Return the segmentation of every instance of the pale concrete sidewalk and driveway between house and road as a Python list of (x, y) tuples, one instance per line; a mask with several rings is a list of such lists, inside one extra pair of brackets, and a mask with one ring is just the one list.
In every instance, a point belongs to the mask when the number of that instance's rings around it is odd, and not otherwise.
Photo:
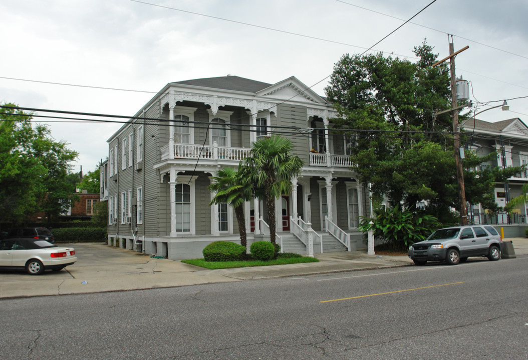
[[(528, 255), (528, 239), (510, 238), (515, 254)], [(104, 243), (70, 244), (79, 260), (61, 271), (30, 276), (0, 270), (0, 298), (66, 295), (306, 276), (409, 266), (407, 256), (367, 255), (364, 251), (316, 254), (319, 262), (208, 270), (181, 261), (155, 259)]]

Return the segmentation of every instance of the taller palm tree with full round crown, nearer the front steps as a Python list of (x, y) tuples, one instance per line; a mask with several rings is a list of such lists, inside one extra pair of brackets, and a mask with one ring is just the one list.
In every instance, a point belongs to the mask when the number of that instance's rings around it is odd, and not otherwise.
[[(251, 144), (250, 156), (244, 159), (244, 171), (255, 187), (253, 193), (266, 201), (270, 241), (275, 244), (275, 199), (291, 191), (291, 179), (300, 174), (303, 160), (290, 155), (293, 142), (280, 135), (261, 138)], [(257, 220), (257, 219), (255, 219)]]

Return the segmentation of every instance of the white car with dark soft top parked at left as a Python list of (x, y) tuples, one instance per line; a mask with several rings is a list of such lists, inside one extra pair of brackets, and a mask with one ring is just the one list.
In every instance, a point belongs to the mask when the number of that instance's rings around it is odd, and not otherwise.
[(40, 239), (0, 241), (0, 268), (25, 269), (30, 275), (62, 270), (77, 261), (75, 249), (58, 247)]

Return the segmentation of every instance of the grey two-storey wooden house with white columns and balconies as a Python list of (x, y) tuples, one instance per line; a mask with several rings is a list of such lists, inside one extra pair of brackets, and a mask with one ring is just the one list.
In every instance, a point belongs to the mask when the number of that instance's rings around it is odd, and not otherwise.
[[(362, 246), (356, 226), (370, 216), (371, 205), (367, 184), (350, 170), (351, 140), (327, 130), (336, 116), (325, 98), (293, 76), (276, 84), (238, 76), (167, 84), (108, 139), (100, 199), (108, 200), (109, 242), (183, 259), (201, 257), (212, 241), (239, 240), (233, 209), (209, 206), (207, 186), (218, 169), (237, 168), (253, 141), (279, 133), (293, 140), (304, 161), (293, 191), (276, 202), (284, 250), (306, 249), (290, 234), (302, 237), (306, 226), (299, 218), (324, 233), (324, 244), (338, 242), (326, 233), (325, 217), (333, 222), (328, 230), (344, 230), (342, 242), (355, 250)], [(266, 237), (266, 220), (261, 201), (246, 203), (248, 245)], [(342, 242), (332, 251), (346, 250)]]

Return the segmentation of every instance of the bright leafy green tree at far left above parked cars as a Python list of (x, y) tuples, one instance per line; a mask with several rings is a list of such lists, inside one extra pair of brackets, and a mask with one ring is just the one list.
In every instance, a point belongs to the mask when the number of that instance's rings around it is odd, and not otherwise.
[(69, 206), (71, 192), (65, 181), (77, 152), (55, 141), (46, 125), (31, 122), (31, 113), (16, 105), (1, 104), (0, 111), (0, 216), (21, 223), (36, 211), (48, 221)]

